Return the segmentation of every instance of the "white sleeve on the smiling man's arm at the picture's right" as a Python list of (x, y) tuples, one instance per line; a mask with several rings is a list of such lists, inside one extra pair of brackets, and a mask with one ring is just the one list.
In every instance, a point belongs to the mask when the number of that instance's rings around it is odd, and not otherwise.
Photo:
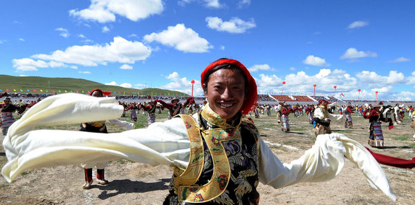
[(259, 181), (282, 188), (299, 182), (322, 182), (333, 179), (344, 166), (344, 156), (356, 164), (369, 185), (396, 200), (389, 182), (376, 159), (364, 146), (342, 134), (318, 135), (315, 144), (290, 164), (283, 164), (261, 140)]

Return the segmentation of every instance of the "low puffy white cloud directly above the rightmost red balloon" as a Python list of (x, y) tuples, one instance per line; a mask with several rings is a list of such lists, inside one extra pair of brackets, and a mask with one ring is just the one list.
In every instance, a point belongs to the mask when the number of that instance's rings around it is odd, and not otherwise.
[(388, 76), (381, 76), (376, 72), (363, 70), (362, 72), (358, 72), (356, 77), (360, 79), (361, 84), (365, 84), (368, 88), (373, 88), (378, 85), (402, 84), (405, 80), (403, 73), (397, 72), (396, 70), (390, 70)]

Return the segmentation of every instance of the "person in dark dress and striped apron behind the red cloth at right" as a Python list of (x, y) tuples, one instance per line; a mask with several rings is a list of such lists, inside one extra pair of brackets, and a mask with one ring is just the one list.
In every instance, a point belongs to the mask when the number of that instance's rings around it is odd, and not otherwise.
[[(382, 133), (382, 119), (380, 119), (380, 107), (382, 104), (380, 102), (376, 102), (372, 109), (367, 109), (363, 113), (363, 117), (365, 119), (369, 119), (370, 127), (369, 127), (369, 146), (373, 147), (383, 147), (383, 133)], [(367, 113), (369, 115), (367, 115)]]

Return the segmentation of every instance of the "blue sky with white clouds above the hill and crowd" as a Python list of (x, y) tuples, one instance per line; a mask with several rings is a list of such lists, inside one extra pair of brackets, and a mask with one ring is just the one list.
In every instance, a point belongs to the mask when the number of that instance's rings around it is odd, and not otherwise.
[(4, 75), (188, 94), (195, 80), (202, 95), (202, 70), (227, 57), (250, 70), (260, 93), (312, 94), (316, 84), (317, 95), (415, 100), (415, 1), (1, 4)]

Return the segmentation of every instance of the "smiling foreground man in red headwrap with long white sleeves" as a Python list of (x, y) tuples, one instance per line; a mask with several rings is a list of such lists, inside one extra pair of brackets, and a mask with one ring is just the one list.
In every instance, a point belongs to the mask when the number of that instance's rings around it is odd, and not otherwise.
[[(357, 141), (341, 134), (322, 135), (316, 140), (315, 146), (299, 159), (291, 164), (280, 162), (259, 137), (255, 124), (242, 118), (256, 104), (257, 85), (248, 69), (239, 61), (214, 61), (202, 72), (201, 84), (209, 101), (201, 113), (192, 116), (179, 115), (171, 120), (151, 124), (148, 128), (114, 133), (105, 139), (99, 138), (103, 134), (97, 133), (89, 137), (77, 136), (77, 141), (66, 141), (72, 139), (65, 138), (72, 134), (66, 130), (34, 130), (28, 133), (28, 126), (43, 124), (44, 121), (26, 121), (24, 118), (14, 125), (13, 132), (5, 139), (9, 162), (3, 167), (2, 174), (10, 182), (28, 168), (68, 163), (59, 160), (61, 158), (46, 158), (52, 154), (69, 158), (71, 163), (78, 160), (99, 162), (123, 157), (151, 165), (172, 166), (174, 175), (163, 204), (259, 204), (259, 182), (273, 188), (299, 182), (322, 182), (340, 173), (346, 156), (363, 170), (372, 186), (382, 190), (392, 200), (396, 199), (385, 173), (371, 154)], [(77, 95), (71, 94), (73, 96)], [(55, 100), (57, 99), (48, 101)], [(80, 96), (76, 101), (64, 102), (75, 106), (90, 105), (82, 106), (84, 110), (75, 111), (86, 112), (95, 108), (94, 106), (107, 110), (105, 113), (95, 111), (95, 115), (86, 115), (88, 119), (111, 118), (122, 112), (122, 108), (97, 104), (96, 101), (98, 99), (91, 100)], [(46, 103), (40, 106), (43, 105)], [(48, 110), (44, 112), (49, 117), (48, 120), (53, 120), (55, 124), (61, 120), (55, 116), (56, 113), (48, 113)], [(77, 112), (66, 113), (74, 114)], [(68, 121), (67, 117), (65, 119)], [(76, 116), (73, 120), (76, 120)], [(36, 156), (30, 155), (31, 151), (42, 145), (42, 141), (57, 133), (61, 135), (60, 141), (42, 146), (42, 152)], [(25, 140), (18, 144), (12, 143), (15, 139), (20, 139), (21, 135), (26, 136)], [(85, 143), (91, 141), (102, 143), (102, 150), (97, 153), (100, 156), (93, 159), (76, 157), (80, 150), (97, 148)], [(31, 146), (21, 148), (21, 143)], [(75, 145), (71, 147), (71, 153), (57, 155), (60, 150), (53, 148), (66, 148), (66, 144)], [(77, 150), (80, 145), (80, 150)]]

